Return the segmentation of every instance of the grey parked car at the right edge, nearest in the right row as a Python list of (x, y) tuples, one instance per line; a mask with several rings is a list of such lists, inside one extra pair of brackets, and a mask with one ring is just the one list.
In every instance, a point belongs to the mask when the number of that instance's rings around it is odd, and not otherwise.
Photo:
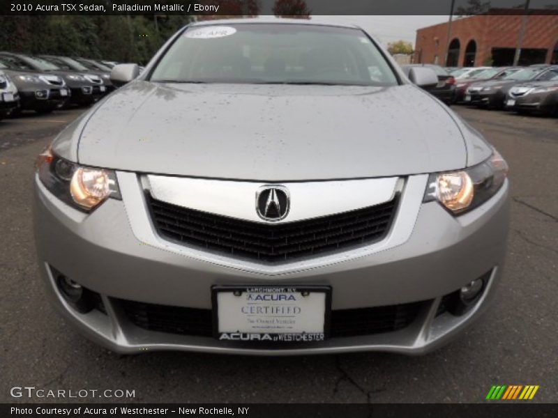
[(506, 98), (506, 109), (518, 113), (558, 116), (558, 66), (549, 69), (554, 76), (545, 82), (516, 84)]

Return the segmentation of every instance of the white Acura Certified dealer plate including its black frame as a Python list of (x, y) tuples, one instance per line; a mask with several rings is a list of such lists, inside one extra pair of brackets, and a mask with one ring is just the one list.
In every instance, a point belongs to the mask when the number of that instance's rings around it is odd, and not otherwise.
[(214, 286), (216, 338), (310, 342), (327, 336), (331, 288), (326, 286)]

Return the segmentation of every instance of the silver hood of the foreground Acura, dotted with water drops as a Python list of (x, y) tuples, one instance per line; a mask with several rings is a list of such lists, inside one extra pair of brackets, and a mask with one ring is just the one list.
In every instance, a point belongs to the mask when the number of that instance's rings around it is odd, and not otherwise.
[(266, 181), (402, 176), (465, 167), (469, 146), (490, 155), (483, 141), (466, 144), (472, 142), (463, 132), (474, 133), (457, 119), (409, 84), (137, 80), (100, 102), (70, 128), (74, 134), (61, 135), (54, 151), (75, 148), (78, 162), (95, 167), (176, 176)]

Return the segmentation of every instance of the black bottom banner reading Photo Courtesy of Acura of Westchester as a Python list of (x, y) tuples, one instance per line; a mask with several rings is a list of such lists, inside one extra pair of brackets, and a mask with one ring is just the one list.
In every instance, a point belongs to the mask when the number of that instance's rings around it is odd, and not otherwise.
[[(521, 402), (521, 403), (520, 403)], [(0, 417), (551, 418), (558, 404), (523, 403), (3, 403)]]

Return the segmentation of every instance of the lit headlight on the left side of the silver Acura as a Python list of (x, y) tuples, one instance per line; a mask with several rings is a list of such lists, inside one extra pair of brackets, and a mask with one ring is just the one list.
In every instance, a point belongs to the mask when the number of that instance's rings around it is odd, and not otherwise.
[(45, 150), (36, 167), (40, 181), (64, 203), (91, 212), (106, 199), (121, 199), (114, 171), (83, 167)]

